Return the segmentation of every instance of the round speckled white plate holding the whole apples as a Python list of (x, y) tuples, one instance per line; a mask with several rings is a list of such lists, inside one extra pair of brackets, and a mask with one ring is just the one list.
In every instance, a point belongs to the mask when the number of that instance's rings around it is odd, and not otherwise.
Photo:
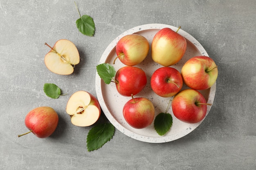
[[(121, 35), (119, 35), (115, 40), (113, 40), (104, 53), (101, 56), (101, 59), (99, 61), (99, 64), (101, 63), (110, 63), (112, 64), (114, 58), (117, 56), (115, 51), (115, 46), (120, 38), (122, 38), (124, 35), (136, 33), (144, 36), (147, 38), (150, 46), (153, 40), (154, 35), (162, 28), (171, 28), (173, 31), (176, 31), (178, 28), (166, 24), (146, 24), (141, 26), (136, 26), (132, 29), (129, 29), (128, 31), (125, 31)], [(195, 40), (189, 33), (186, 33), (182, 29), (178, 31), (178, 33), (182, 36), (184, 36), (187, 40), (187, 49), (185, 55), (182, 57), (182, 59), (172, 67), (176, 68), (178, 71), (181, 71), (181, 68), (183, 64), (189, 60), (189, 58), (197, 56), (197, 55), (205, 55), (208, 56), (207, 52), (204, 50), (202, 45)], [(150, 49), (151, 51), (151, 49)], [(113, 65), (113, 64), (112, 64)], [(122, 64), (119, 60), (116, 60), (115, 64), (113, 65), (116, 69), (116, 71), (125, 66)], [(146, 87), (135, 97), (146, 97), (150, 99), (153, 102), (153, 105), (155, 106), (155, 116), (158, 115), (161, 112), (165, 112), (168, 102), (170, 99), (173, 99), (173, 97), (164, 98), (157, 96), (150, 87), (150, 77), (153, 74), (153, 72), (157, 69), (162, 67), (161, 65), (153, 62), (151, 58), (151, 52), (148, 53), (148, 56), (146, 59), (141, 63), (136, 65), (139, 68), (142, 68), (146, 75), (148, 83)], [(144, 129), (135, 129), (132, 128), (130, 125), (128, 125), (124, 119), (123, 116), (123, 106), (124, 104), (131, 99), (131, 97), (124, 97), (121, 96), (116, 89), (115, 83), (105, 84), (104, 81), (99, 77), (99, 75), (96, 73), (96, 92), (97, 92), (97, 98), (99, 100), (99, 103), (101, 105), (101, 108), (108, 118), (108, 120), (122, 133), (125, 135), (132, 137), (133, 139), (137, 139), (139, 141), (149, 142), (149, 143), (164, 143), (168, 141), (173, 141), (176, 139), (179, 139), (181, 137), (184, 137), (185, 135), (192, 132), (195, 128), (197, 128), (201, 122), (196, 124), (188, 124), (184, 123), (182, 121), (179, 121), (172, 112), (171, 106), (168, 109), (168, 113), (170, 113), (173, 117), (173, 125), (169, 132), (167, 132), (164, 136), (159, 136), (157, 132), (154, 129), (154, 124), (152, 123), (150, 126), (144, 128)], [(185, 85), (183, 86), (183, 89), (187, 88)], [(216, 91), (216, 83), (208, 90), (200, 91), (208, 103), (213, 103), (213, 99), (215, 96)], [(209, 110), (211, 109), (211, 106), (207, 106), (207, 114), (209, 113)]]

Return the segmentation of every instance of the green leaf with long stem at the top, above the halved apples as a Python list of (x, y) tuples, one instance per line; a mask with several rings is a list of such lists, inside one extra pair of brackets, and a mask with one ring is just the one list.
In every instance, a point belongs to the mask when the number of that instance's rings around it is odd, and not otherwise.
[[(76, 4), (76, 2), (75, 2), (75, 4)], [(77, 5), (76, 5), (76, 9), (77, 9), (77, 11), (79, 13), (79, 17), (80, 17), (78, 20), (76, 20), (76, 27), (82, 34), (92, 37), (94, 35), (94, 31), (95, 31), (95, 24), (94, 24), (92, 17), (90, 17), (89, 15), (81, 16)]]

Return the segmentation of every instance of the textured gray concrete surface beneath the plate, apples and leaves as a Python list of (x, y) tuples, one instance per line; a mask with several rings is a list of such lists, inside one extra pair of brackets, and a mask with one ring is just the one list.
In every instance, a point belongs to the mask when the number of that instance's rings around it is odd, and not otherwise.
[[(76, 0), (81, 15), (95, 22), (94, 37), (76, 28), (74, 1), (0, 1), (0, 170), (255, 170), (256, 169), (256, 1), (255, 0)], [(209, 115), (193, 132), (176, 141), (150, 144), (116, 130), (113, 139), (86, 150), (91, 127), (70, 123), (70, 95), (51, 99), (43, 84), (64, 93), (95, 92), (96, 65), (118, 35), (142, 24), (182, 26), (219, 68)], [(72, 75), (47, 70), (44, 56), (59, 39), (76, 44), (81, 62)], [(51, 106), (59, 115), (54, 134), (29, 134), (29, 110)]]

